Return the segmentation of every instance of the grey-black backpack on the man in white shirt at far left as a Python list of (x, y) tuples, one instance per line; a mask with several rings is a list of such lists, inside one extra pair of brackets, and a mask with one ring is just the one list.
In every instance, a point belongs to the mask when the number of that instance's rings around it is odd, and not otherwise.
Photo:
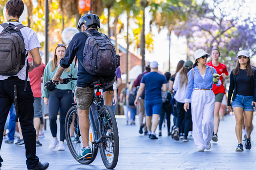
[(27, 51), (20, 30), (26, 26), (11, 23), (3, 23), (1, 26), (4, 30), (0, 33), (0, 75), (14, 76), (25, 65)]

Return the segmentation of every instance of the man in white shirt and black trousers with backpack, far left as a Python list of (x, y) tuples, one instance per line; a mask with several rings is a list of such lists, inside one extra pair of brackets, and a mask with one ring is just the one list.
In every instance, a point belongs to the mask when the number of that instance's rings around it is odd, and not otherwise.
[[(36, 156), (36, 130), (33, 126), (34, 97), (28, 72), (40, 66), (40, 44), (35, 31), (19, 23), (24, 10), (21, 0), (10, 0), (6, 4), (7, 23), (0, 27), (0, 146), (8, 112), (15, 104), (26, 148), (28, 169), (47, 169), (49, 163), (40, 163)], [(28, 62), (30, 51), (33, 62)], [(15, 154), (15, 153), (14, 153)], [(0, 156), (0, 167), (3, 162)]]

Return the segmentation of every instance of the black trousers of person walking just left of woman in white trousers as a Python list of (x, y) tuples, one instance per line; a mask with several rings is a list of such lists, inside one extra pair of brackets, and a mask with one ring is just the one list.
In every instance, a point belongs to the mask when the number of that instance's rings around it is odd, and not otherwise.
[(184, 133), (185, 137), (188, 136), (190, 126), (192, 124), (192, 115), (191, 115), (191, 104), (189, 105), (189, 109), (187, 111), (184, 110), (184, 103), (180, 103), (176, 101), (177, 106), (177, 118), (176, 118), (176, 127), (178, 127), (181, 131), (182, 121), (185, 119), (185, 128)]

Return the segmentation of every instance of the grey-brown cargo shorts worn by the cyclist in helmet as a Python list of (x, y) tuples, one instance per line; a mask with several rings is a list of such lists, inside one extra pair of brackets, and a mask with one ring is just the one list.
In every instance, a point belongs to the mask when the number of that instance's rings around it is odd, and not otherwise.
[[(105, 89), (113, 86), (116, 81), (116, 77), (111, 82), (108, 83), (108, 86)], [(75, 99), (77, 107), (79, 110), (87, 110), (94, 102), (94, 88), (88, 87), (76, 87), (75, 89)]]

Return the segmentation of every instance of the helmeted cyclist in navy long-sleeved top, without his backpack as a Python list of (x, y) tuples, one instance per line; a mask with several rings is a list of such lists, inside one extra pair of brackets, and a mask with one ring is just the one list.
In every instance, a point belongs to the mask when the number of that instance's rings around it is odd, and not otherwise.
[[(98, 29), (100, 28), (100, 19), (95, 14), (86, 14), (83, 15), (77, 25), (78, 29), (81, 31), (88, 31), (94, 36), (100, 36)], [(63, 79), (60, 77), (62, 72), (69, 67), (72, 63), (74, 57), (78, 58), (78, 71), (77, 71), (77, 82), (75, 90), (75, 98), (78, 107), (78, 116), (79, 116), (79, 127), (82, 137), (83, 148), (77, 156), (77, 160), (82, 159), (83, 157), (92, 155), (92, 149), (89, 146), (89, 108), (94, 101), (94, 88), (91, 88), (90, 85), (98, 81), (100, 77), (89, 74), (83, 67), (83, 48), (86, 44), (87, 36), (83, 33), (77, 33), (72, 38), (69, 46), (67, 47), (64, 58), (59, 62), (58, 69), (53, 77), (54, 81), (63, 82)], [(116, 74), (113, 72), (110, 76), (103, 77), (105, 82), (108, 82), (108, 86), (103, 90), (104, 104), (111, 106), (113, 98), (113, 84), (116, 80)], [(58, 84), (58, 83), (56, 83)]]

